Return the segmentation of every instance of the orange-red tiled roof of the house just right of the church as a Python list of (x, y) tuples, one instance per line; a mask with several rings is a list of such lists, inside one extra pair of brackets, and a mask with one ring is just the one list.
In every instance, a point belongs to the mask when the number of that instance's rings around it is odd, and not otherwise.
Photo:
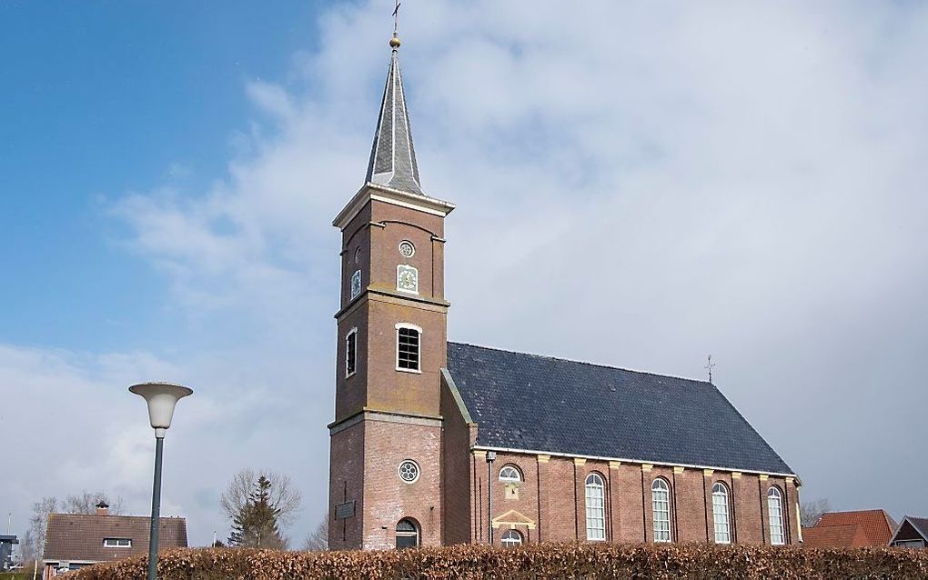
[(806, 548), (862, 548), (886, 546), (896, 522), (883, 509), (831, 511), (814, 526), (803, 528)]

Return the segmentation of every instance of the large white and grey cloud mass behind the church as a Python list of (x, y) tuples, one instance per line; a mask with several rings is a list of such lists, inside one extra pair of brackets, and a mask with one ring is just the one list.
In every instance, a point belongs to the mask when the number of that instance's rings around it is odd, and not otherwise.
[[(42, 493), (103, 486), (81, 466), (138, 423), (100, 406), (98, 385), (175, 372), (205, 387), (179, 411), (167, 456), (169, 505), (194, 541), (212, 539), (210, 502), (245, 465), (301, 483), (296, 535), (325, 509), (329, 224), (364, 174), (384, 6), (331, 8), (319, 52), (295, 56), (278, 84), (243, 88), (257, 120), (241, 123), (213, 187), (152, 184), (113, 209), (171, 281), (196, 350), (170, 362), (0, 351), (0, 384), (42, 393), (29, 397), (37, 416), (55, 402), (124, 425), (95, 423), (80, 446), (60, 444), (71, 419), (58, 425), (37, 456), (64, 445), (79, 476)], [(928, 10), (905, 3), (408, 6), (401, 58), (423, 185), (458, 203), (450, 336), (686, 376), (711, 352), (718, 384), (806, 497), (928, 511), (894, 479), (924, 470), (899, 442), (928, 404), (926, 26)], [(138, 490), (146, 445), (143, 433), (108, 447), (96, 481)]]

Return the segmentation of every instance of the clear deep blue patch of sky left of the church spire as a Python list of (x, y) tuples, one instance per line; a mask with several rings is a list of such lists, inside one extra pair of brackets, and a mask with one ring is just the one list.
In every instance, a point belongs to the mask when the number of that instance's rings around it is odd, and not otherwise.
[(221, 175), (252, 112), (242, 85), (314, 48), (317, 4), (0, 6), (0, 242), (19, 280), (4, 285), (2, 340), (158, 348), (164, 281), (122, 247), (107, 202), (172, 173), (193, 189)]

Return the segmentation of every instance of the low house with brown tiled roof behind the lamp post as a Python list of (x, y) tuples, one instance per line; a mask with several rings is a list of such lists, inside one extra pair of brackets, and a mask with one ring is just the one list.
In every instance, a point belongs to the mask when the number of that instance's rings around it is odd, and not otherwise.
[[(53, 513), (45, 532), (43, 578), (51, 578), (101, 561), (148, 554), (151, 518), (110, 515), (109, 506), (97, 504), (96, 514)], [(187, 548), (187, 521), (161, 518), (160, 548)]]

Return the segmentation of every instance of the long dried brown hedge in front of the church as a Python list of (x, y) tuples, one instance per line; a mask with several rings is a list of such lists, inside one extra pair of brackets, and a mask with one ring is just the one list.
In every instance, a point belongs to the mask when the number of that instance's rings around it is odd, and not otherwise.
[[(97, 564), (71, 580), (145, 578), (146, 557)], [(200, 548), (161, 552), (161, 580), (290, 578), (928, 578), (928, 550), (541, 544), (378, 552)]]

